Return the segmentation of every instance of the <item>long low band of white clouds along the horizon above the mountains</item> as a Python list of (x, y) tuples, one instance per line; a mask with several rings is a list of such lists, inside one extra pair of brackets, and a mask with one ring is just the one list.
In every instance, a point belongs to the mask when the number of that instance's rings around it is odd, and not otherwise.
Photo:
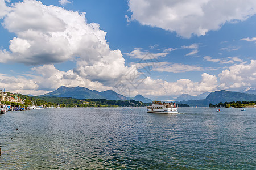
[[(198, 95), (205, 91), (215, 90), (241, 90), (241, 88), (256, 86), (256, 61), (252, 60), (250, 64), (234, 65), (222, 71), (217, 77), (207, 73), (201, 74), (199, 82), (193, 82), (190, 79), (179, 79), (176, 82), (167, 82), (161, 79), (152, 79), (150, 77), (132, 79), (137, 77), (137, 69), (133, 65), (133, 73), (122, 76), (123, 87), (129, 89), (128, 92), (118, 90), (111, 86), (105, 86), (103, 83), (82, 78), (76, 72), (60, 71), (53, 65), (43, 65), (32, 68), (31, 75), (10, 76), (0, 74), (0, 87), (6, 91), (20, 92), (22, 94), (42, 95), (51, 90), (55, 90), (61, 85), (74, 87), (82, 86), (93, 90), (115, 90), (116, 92), (126, 95), (135, 96), (142, 94), (145, 96), (166, 96), (177, 97), (183, 93)], [(188, 66), (184, 66), (188, 67)], [(36, 73), (36, 74), (35, 74)], [(135, 74), (134, 74), (135, 73)], [(114, 82), (117, 83), (117, 82)], [(122, 87), (122, 88), (123, 88)]]

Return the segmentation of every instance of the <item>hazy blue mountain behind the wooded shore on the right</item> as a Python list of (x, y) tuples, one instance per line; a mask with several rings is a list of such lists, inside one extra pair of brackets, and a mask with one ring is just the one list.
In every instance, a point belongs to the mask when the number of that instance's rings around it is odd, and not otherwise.
[(210, 103), (218, 104), (232, 101), (256, 101), (256, 95), (246, 94), (233, 91), (214, 91), (211, 92), (205, 99), (201, 100), (182, 100), (180, 103), (188, 104), (189, 106), (208, 107)]

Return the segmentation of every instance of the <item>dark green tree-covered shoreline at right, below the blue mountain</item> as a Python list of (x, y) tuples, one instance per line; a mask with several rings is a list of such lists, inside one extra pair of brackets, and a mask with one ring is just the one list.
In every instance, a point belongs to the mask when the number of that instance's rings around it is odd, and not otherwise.
[(218, 103), (213, 105), (212, 103), (209, 104), (210, 108), (244, 108), (248, 106), (253, 106), (255, 105), (256, 101), (232, 101), (232, 102), (225, 102), (225, 103)]

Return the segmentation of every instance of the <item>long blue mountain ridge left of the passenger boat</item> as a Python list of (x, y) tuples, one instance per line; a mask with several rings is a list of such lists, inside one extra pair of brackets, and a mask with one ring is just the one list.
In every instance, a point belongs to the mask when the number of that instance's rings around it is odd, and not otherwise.
[(135, 97), (126, 97), (118, 94), (113, 90), (106, 90), (99, 92), (97, 90), (90, 90), (85, 87), (66, 87), (60, 86), (57, 90), (44, 94), (43, 96), (49, 97), (72, 97), (75, 99), (108, 99), (108, 100), (135, 100), (142, 101), (143, 103), (152, 102), (151, 99), (137, 95)]

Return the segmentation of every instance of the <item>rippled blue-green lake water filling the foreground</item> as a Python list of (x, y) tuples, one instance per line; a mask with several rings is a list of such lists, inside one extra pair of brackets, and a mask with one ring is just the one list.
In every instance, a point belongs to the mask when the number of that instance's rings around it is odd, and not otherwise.
[(0, 169), (255, 169), (256, 109), (216, 110), (7, 112), (0, 115)]

